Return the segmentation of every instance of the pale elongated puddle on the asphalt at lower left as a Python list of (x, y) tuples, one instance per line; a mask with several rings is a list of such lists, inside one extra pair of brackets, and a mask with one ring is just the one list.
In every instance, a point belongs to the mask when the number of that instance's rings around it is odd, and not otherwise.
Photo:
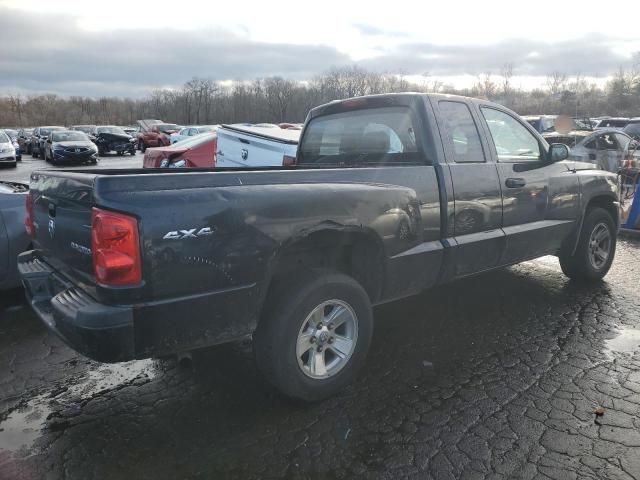
[(140, 377), (145, 381), (156, 377), (155, 361), (137, 360), (119, 364), (101, 364), (71, 378), (63, 386), (30, 398), (0, 422), (0, 452), (37, 453), (32, 451), (34, 442), (42, 435), (47, 418), (67, 408), (79, 408), (79, 402), (100, 392), (117, 389)]

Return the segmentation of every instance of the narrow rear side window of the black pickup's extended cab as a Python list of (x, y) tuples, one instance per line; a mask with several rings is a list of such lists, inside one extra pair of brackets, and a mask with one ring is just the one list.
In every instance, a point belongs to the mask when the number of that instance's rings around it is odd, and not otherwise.
[(469, 107), (460, 102), (438, 102), (440, 115), (449, 132), (449, 142), (454, 162), (485, 162), (480, 134)]

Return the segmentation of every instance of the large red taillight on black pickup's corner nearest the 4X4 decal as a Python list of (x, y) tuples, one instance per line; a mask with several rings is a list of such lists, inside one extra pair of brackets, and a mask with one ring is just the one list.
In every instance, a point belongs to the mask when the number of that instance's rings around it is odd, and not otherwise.
[(138, 221), (94, 208), (91, 213), (93, 271), (102, 285), (137, 285), (142, 281)]

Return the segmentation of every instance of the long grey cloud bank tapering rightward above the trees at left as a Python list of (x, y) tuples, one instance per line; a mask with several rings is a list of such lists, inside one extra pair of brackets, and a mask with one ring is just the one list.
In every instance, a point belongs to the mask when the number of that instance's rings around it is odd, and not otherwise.
[(0, 51), (0, 93), (133, 97), (193, 76), (302, 80), (352, 63), (333, 47), (255, 42), (224, 29), (91, 32), (69, 15), (1, 7)]

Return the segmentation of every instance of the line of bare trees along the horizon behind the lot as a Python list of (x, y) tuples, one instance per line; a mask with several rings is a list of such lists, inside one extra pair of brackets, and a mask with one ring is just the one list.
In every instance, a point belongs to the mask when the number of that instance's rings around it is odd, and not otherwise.
[(132, 125), (158, 118), (181, 125), (302, 122), (314, 106), (331, 100), (391, 92), (438, 92), (485, 98), (521, 115), (640, 116), (640, 53), (634, 66), (620, 68), (604, 86), (582, 75), (554, 72), (544, 85), (524, 90), (515, 85), (514, 67), (480, 75), (469, 88), (456, 89), (425, 77), (367, 71), (357, 66), (332, 69), (298, 82), (282, 77), (251, 82), (218, 82), (193, 78), (177, 89), (157, 89), (145, 98), (61, 97), (55, 94), (0, 97), (0, 126), (115, 124)]

